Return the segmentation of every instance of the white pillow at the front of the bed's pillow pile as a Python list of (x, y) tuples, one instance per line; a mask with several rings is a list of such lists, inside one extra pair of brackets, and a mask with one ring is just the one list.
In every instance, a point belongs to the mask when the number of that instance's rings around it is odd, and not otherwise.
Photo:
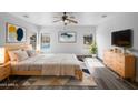
[(17, 61), (18, 62), (23, 61), (23, 60), (27, 60), (29, 58), (28, 56), (28, 53), (26, 51), (18, 51), (14, 54), (17, 56)]

